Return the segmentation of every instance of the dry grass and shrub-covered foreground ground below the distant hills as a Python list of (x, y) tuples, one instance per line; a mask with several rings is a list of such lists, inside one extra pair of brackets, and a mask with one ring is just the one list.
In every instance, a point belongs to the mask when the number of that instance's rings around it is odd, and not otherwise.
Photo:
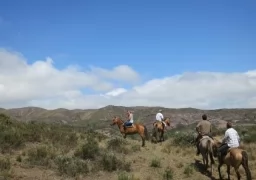
[[(195, 147), (185, 146), (186, 142), (191, 141), (189, 134), (185, 138), (179, 135), (176, 140), (169, 138), (162, 144), (152, 144), (147, 141), (146, 147), (141, 147), (140, 140), (131, 139), (129, 136), (124, 140), (118, 134), (116, 137), (107, 138), (95, 132), (67, 130), (63, 127), (40, 125), (39, 128), (31, 124), (9, 124), (9, 120), (6, 119), (0, 122), (2, 132), (6, 132), (3, 134), (4, 137), (9, 137), (9, 139), (0, 137), (4, 144), (0, 154), (2, 172), (0, 176), (7, 178), (19, 180), (210, 179), (202, 170), (202, 157), (195, 155)], [(13, 132), (16, 134), (12, 134)], [(34, 132), (37, 134), (36, 139), (31, 139), (28, 135)], [(170, 136), (174, 137), (173, 134)], [(244, 148), (249, 154), (252, 177), (256, 177), (254, 171), (256, 144), (244, 144)], [(223, 166), (222, 173), (226, 177), (225, 171)], [(240, 171), (242, 179), (245, 179), (242, 167)], [(236, 178), (233, 169), (231, 174), (232, 178)], [(213, 176), (218, 179), (217, 165), (214, 166)]]

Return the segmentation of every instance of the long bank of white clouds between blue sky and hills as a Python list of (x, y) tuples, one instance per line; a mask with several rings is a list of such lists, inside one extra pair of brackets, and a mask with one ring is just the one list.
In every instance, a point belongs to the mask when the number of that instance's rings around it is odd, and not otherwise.
[[(109, 104), (239, 108), (256, 107), (256, 70), (243, 73), (186, 72), (152, 79), (131, 89), (113, 80), (138, 82), (140, 76), (126, 65), (83, 72), (76, 66), (55, 68), (51, 58), (28, 64), (19, 53), (0, 50), (0, 107), (99, 108)], [(84, 92), (84, 88), (95, 91)]]

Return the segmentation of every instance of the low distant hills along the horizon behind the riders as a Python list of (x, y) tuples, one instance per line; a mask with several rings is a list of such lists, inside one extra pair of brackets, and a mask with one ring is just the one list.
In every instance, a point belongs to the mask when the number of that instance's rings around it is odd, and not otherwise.
[(114, 115), (124, 118), (126, 110), (134, 111), (135, 121), (143, 122), (151, 126), (155, 119), (155, 114), (159, 109), (163, 110), (164, 116), (170, 117), (174, 126), (178, 124), (188, 125), (201, 119), (201, 115), (206, 113), (209, 120), (217, 126), (231, 120), (242, 124), (256, 123), (256, 109), (216, 109), (200, 110), (194, 108), (164, 108), (164, 107), (123, 107), (123, 106), (106, 106), (100, 109), (55, 109), (46, 110), (38, 107), (24, 107), (15, 109), (2, 109), (0, 113), (5, 113), (13, 119), (19, 121), (38, 121), (47, 123), (74, 124), (83, 126), (93, 124), (97, 127), (108, 126)]

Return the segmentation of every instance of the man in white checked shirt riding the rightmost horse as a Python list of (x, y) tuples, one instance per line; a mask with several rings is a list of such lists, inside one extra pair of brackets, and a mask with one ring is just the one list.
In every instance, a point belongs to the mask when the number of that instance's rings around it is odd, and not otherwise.
[(236, 148), (240, 145), (240, 137), (237, 131), (232, 127), (231, 122), (227, 122), (227, 130), (225, 136), (222, 139), (222, 145), (218, 148), (218, 157), (222, 160), (222, 157), (227, 154), (229, 148)]

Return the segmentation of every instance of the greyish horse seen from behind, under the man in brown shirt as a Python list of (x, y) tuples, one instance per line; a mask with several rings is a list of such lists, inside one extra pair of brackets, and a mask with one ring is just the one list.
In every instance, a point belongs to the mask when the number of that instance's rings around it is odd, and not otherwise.
[(209, 166), (209, 159), (208, 156), (210, 157), (211, 160), (211, 175), (213, 172), (213, 164), (215, 164), (214, 158), (213, 158), (213, 146), (214, 146), (214, 140), (211, 139), (209, 136), (203, 136), (200, 141), (199, 141), (199, 149), (200, 149), (200, 153), (203, 157), (203, 163), (204, 166), (207, 170), (208, 166)]

